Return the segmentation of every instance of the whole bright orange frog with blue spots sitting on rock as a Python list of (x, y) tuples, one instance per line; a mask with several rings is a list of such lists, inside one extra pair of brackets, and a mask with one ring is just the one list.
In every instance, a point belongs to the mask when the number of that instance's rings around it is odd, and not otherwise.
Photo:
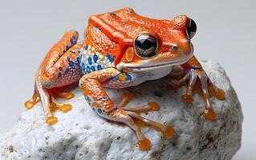
[(74, 97), (71, 93), (59, 92), (56, 87), (79, 82), (86, 101), (96, 114), (132, 128), (140, 150), (148, 150), (151, 142), (141, 133), (138, 122), (161, 130), (166, 139), (175, 134), (172, 126), (140, 116), (141, 112), (159, 110), (157, 103), (125, 108), (133, 95), (124, 94), (121, 104), (116, 105), (104, 87), (137, 86), (167, 75), (173, 77), (178, 69), (180, 76), (176, 76), (177, 82), (169, 85), (169, 89), (186, 85), (187, 92), (182, 96), (185, 102), (193, 102), (193, 89), (197, 91), (205, 101), (202, 114), (206, 119), (214, 120), (216, 115), (209, 95), (224, 99), (225, 92), (209, 81), (193, 56), (190, 41), (196, 30), (196, 23), (185, 15), (158, 20), (141, 17), (130, 8), (92, 15), (82, 42), (77, 42), (75, 30), (67, 31), (47, 53), (36, 73), (35, 93), (25, 106), (30, 109), (40, 99), (46, 122), (52, 125), (58, 121), (53, 115), (54, 110), (71, 110), (71, 105), (60, 104), (55, 98)]

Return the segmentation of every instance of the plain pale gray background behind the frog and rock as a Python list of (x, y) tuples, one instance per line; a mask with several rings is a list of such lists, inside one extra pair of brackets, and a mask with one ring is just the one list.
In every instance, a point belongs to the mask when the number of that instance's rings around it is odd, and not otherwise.
[(255, 5), (254, 0), (1, 1), (0, 133), (25, 110), (39, 63), (66, 30), (82, 34), (89, 15), (130, 6), (151, 18), (187, 14), (197, 22), (195, 54), (224, 66), (242, 103), (242, 149), (234, 159), (255, 159)]

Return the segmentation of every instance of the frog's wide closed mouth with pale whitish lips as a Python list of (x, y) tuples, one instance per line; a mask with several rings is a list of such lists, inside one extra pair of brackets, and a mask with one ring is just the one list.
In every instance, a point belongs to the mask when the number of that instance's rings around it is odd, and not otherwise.
[[(193, 56), (193, 45), (191, 44), (191, 50), (189, 54), (183, 54), (182, 52), (180, 52), (180, 55), (175, 58), (161, 58), (161, 55), (159, 55), (159, 57), (155, 57), (154, 59), (150, 59), (150, 58), (144, 59), (144, 60), (141, 60), (141, 62), (120, 63), (116, 66), (116, 68), (119, 70), (127, 69), (128, 71), (132, 71), (132, 72), (156, 70), (156, 69), (161, 69), (169, 66), (177, 66), (177, 65), (184, 64), (192, 56)], [(165, 56), (162, 56), (162, 57), (165, 57)]]

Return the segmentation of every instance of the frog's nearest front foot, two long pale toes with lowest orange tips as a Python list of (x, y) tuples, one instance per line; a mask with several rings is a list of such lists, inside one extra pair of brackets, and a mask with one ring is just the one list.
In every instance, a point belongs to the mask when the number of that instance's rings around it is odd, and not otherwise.
[(154, 122), (132, 111), (116, 109), (110, 113), (110, 117), (116, 122), (122, 122), (128, 125), (132, 130), (135, 131), (136, 136), (139, 140), (138, 146), (140, 150), (148, 150), (151, 147), (151, 142), (148, 140), (148, 138), (144, 136), (144, 134), (140, 130), (140, 127), (142, 126), (152, 126), (156, 130), (161, 130), (166, 139), (173, 138), (173, 135), (175, 134), (173, 127), (165, 126), (161, 123)]

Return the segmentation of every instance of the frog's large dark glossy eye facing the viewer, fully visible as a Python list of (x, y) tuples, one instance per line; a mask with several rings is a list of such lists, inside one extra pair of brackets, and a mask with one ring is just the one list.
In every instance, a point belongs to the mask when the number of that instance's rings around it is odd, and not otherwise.
[(142, 58), (149, 58), (156, 55), (157, 40), (149, 34), (139, 34), (134, 42), (136, 54)]

